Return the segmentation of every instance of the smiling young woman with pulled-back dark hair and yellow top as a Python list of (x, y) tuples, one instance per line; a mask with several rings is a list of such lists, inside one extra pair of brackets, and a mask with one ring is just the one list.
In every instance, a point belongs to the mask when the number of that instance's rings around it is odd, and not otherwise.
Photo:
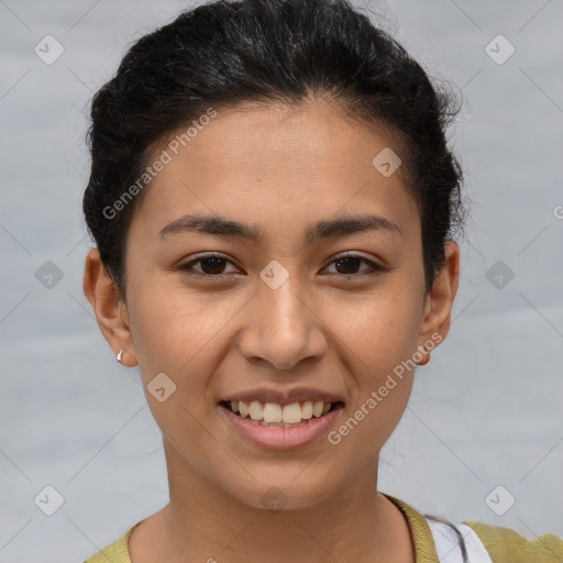
[(133, 45), (92, 102), (84, 290), (170, 498), (88, 563), (563, 561), (377, 490), (457, 290), (455, 113), (343, 0), (212, 2)]

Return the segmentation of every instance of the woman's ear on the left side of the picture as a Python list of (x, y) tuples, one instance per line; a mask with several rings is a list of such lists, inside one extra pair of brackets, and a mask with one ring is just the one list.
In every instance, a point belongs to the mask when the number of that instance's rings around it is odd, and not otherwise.
[(113, 355), (123, 350), (121, 364), (128, 367), (135, 366), (137, 358), (129, 328), (126, 305), (120, 298), (117, 285), (101, 263), (98, 249), (90, 250), (86, 256), (82, 290), (92, 306), (103, 338), (113, 350)]

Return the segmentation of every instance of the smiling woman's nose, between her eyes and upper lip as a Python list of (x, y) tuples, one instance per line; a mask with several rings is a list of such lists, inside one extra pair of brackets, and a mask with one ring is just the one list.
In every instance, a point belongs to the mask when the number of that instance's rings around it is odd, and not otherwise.
[(325, 354), (322, 311), (319, 301), (314, 305), (307, 295), (297, 275), (290, 275), (276, 289), (258, 282), (239, 339), (239, 350), (249, 362), (291, 369)]

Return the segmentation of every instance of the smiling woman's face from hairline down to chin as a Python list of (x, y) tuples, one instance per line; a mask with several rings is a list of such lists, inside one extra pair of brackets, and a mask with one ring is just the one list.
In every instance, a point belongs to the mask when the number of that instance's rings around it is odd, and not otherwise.
[[(325, 102), (219, 111), (184, 139), (150, 158), (170, 156), (135, 209), (123, 321), (107, 327), (123, 363), (139, 363), (169, 474), (196, 472), (258, 508), (373, 479), (421, 346), (448, 332), (456, 245), (426, 298), (420, 218), (400, 166), (389, 174), (399, 147)], [(241, 429), (221, 405), (241, 397), (274, 416), (308, 397), (343, 407), (284, 442), (278, 428)]]

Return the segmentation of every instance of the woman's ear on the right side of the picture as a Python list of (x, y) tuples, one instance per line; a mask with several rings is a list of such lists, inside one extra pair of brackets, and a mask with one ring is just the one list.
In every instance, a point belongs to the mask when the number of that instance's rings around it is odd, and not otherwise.
[[(450, 330), (450, 317), (460, 280), (460, 249), (457, 244), (448, 241), (444, 245), (444, 266), (435, 277), (424, 302), (418, 336), (418, 350), (424, 357), (419, 365), (428, 364), (430, 351), (445, 339)], [(424, 351), (424, 343), (429, 342), (431, 346)]]

